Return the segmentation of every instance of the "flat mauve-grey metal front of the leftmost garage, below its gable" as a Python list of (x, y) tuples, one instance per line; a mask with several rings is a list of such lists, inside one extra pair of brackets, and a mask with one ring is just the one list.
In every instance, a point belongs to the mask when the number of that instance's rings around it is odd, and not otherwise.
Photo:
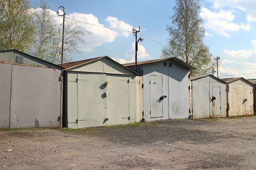
[[(5, 73), (0, 74), (0, 79), (5, 79), (4, 84), (0, 81), (1, 87), (3, 85), (7, 89), (4, 93), (0, 91), (2, 94), (0, 103), (6, 104), (1, 107), (5, 110), (4, 113), (1, 112), (5, 115), (3, 117), (1, 115), (1, 118), (5, 118), (5, 125), (1, 128), (60, 126), (61, 71), (59, 69), (11, 64), (0, 64), (0, 69)], [(11, 98), (8, 98), (8, 95)], [(6, 126), (8, 118), (8, 126)]]

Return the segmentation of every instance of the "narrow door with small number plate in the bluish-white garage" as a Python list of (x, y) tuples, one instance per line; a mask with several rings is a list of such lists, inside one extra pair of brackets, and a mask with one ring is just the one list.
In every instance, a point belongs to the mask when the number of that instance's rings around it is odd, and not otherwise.
[(163, 117), (162, 76), (150, 75), (150, 118)]

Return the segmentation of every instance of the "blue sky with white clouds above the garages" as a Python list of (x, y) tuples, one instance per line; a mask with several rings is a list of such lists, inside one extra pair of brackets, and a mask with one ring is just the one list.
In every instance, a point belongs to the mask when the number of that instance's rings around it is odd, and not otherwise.
[[(73, 61), (107, 55), (119, 63), (134, 62), (131, 32), (139, 26), (138, 38), (143, 41), (138, 45), (138, 61), (160, 58), (175, 6), (175, 0), (45, 1), (53, 14), (64, 6), (66, 19), (81, 21), (79, 25), (92, 33), (84, 35), (85, 45), (79, 45)], [(30, 2), (33, 8), (39, 6), (39, 0)], [(256, 78), (256, 0), (201, 0), (200, 4), (204, 43), (213, 57), (220, 57), (219, 77)], [(61, 23), (61, 18), (55, 18)]]

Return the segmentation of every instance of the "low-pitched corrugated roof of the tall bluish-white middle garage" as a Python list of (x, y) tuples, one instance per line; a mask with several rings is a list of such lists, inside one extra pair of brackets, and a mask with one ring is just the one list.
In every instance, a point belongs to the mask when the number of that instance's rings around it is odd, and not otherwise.
[[(137, 62), (137, 65), (143, 65), (143, 64), (149, 64), (149, 63), (156, 63), (156, 62), (160, 62), (160, 61), (165, 61), (165, 60), (172, 60), (180, 65), (182, 65), (183, 67), (185, 68), (188, 68), (188, 69), (196, 69), (192, 66), (190, 66), (189, 64), (183, 62), (182, 60), (176, 58), (176, 57), (169, 57), (169, 58), (159, 58), (159, 59), (154, 59), (154, 60), (146, 60), (146, 61), (140, 61), (140, 62)], [(124, 66), (128, 67), (128, 66), (135, 66), (135, 62), (134, 63), (126, 63), (126, 64), (123, 64)]]

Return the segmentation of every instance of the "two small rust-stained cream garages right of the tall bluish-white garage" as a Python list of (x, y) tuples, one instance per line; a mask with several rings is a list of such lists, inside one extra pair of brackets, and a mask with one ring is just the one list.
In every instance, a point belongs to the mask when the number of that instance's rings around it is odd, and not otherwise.
[(254, 88), (248, 80), (213, 75), (192, 76), (190, 80), (193, 118), (254, 114)]

